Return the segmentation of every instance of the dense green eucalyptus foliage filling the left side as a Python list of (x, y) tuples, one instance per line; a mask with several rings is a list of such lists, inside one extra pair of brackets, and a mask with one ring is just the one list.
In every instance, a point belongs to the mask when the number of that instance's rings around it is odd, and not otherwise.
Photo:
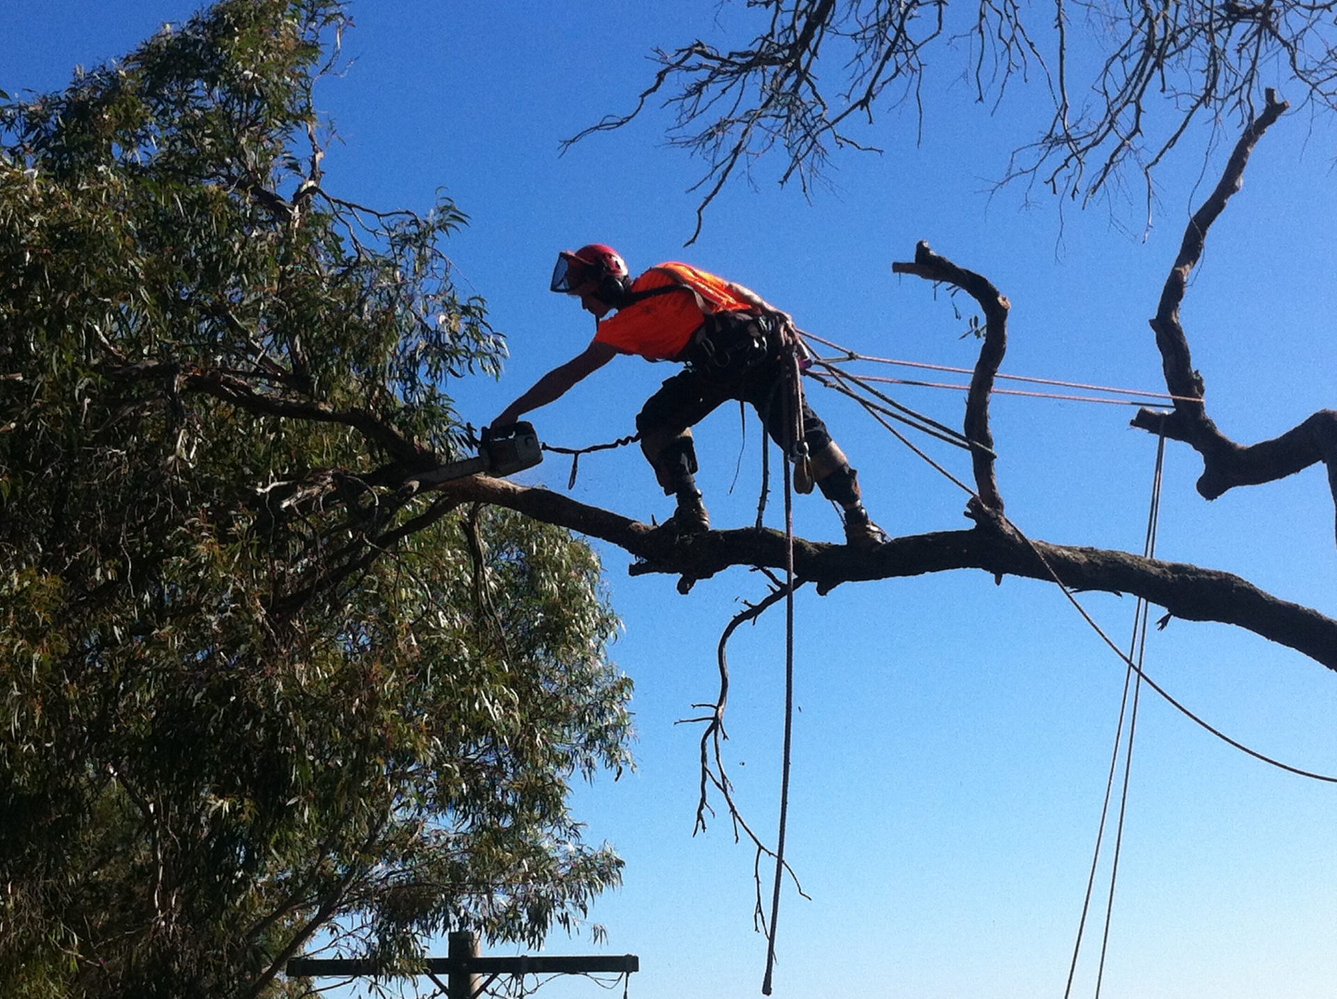
[(329, 194), (332, 0), (225, 0), (0, 100), (0, 994), (277, 995), (321, 929), (536, 943), (620, 863), (596, 558), (397, 487), (504, 356), (439, 243)]

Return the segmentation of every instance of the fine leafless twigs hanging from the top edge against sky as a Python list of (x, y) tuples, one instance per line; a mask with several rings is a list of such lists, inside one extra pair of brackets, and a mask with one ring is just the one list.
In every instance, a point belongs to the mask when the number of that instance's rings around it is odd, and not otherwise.
[[(765, 19), (754, 37), (658, 49), (659, 68), (631, 112), (608, 115), (563, 143), (620, 128), (662, 96), (675, 112), (668, 143), (706, 162), (691, 239), (729, 179), (750, 175), (773, 151), (781, 154), (779, 182), (798, 178), (808, 194), (832, 147), (870, 147), (841, 131), (849, 119), (872, 123), (877, 104), (919, 107), (928, 66), (949, 67), (949, 59), (961, 60), (975, 100), (995, 110), (1013, 80), (1029, 83), (1032, 66), (1043, 74), (1052, 115), (1038, 128), (1021, 126), (1001, 183), (1029, 179), (1088, 202), (1140, 175), (1148, 211), (1152, 173), (1190, 126), (1253, 119), (1278, 70), (1305, 102), (1337, 108), (1337, 0), (1054, 0), (1048, 20), (1043, 8), (1016, 0), (977, 0), (973, 11), (952, 8), (951, 19), (943, 0), (746, 7)], [(1075, 39), (1080, 59), (1070, 52)], [(944, 44), (951, 56), (939, 52)], [(1075, 99), (1080, 94), (1087, 98)]]

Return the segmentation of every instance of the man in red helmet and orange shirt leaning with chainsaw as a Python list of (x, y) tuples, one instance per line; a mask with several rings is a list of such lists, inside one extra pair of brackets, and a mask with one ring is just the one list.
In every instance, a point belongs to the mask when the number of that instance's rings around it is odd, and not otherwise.
[(551, 288), (580, 300), (598, 321), (595, 337), (508, 405), (495, 427), (560, 399), (618, 354), (679, 361), (686, 368), (636, 415), (640, 448), (664, 495), (678, 499), (670, 526), (683, 532), (709, 530), (710, 515), (694, 477), (691, 427), (725, 400), (738, 399), (757, 409), (771, 439), (794, 459), (796, 488), (812, 492), (816, 484), (840, 504), (849, 544), (870, 550), (886, 540), (864, 508), (856, 471), (802, 399), (787, 313), (742, 285), (686, 263), (660, 263), (632, 281), (620, 254), (603, 243), (563, 250)]

